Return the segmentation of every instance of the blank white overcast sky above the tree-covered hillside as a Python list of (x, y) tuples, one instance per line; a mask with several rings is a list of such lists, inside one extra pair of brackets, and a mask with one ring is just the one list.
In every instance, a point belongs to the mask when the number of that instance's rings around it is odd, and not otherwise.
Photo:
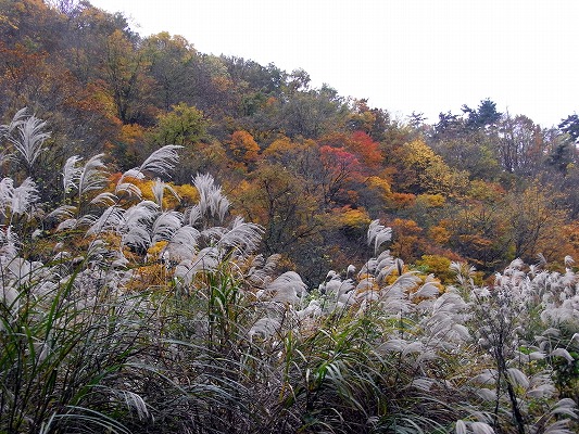
[(578, 0), (90, 0), (141, 36), (305, 69), (403, 119), (490, 98), (543, 127), (579, 112)]

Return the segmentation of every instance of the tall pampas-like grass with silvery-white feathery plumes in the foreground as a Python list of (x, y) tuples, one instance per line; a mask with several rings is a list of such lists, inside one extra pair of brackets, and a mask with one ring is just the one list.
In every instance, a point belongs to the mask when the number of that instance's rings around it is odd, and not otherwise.
[(0, 182), (0, 432), (577, 430), (570, 258), (565, 273), (515, 261), (488, 288), (455, 264), (443, 286), (375, 220), (357, 273), (309, 289), (211, 176), (179, 203), (163, 180), (179, 146), (124, 174), (72, 156), (61, 202), (41, 203), (45, 136), (17, 144), (26, 120), (0, 128), (7, 158), (30, 149)]

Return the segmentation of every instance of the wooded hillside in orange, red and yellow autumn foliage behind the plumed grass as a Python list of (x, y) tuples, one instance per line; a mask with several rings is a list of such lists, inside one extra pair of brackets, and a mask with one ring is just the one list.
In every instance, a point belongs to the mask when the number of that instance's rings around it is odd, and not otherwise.
[(88, 2), (59, 4), (1, 9), (0, 113), (9, 122), (28, 107), (49, 123), (43, 199), (67, 155), (108, 151), (123, 170), (180, 144), (173, 181), (211, 173), (266, 228), (263, 251), (310, 282), (363, 258), (376, 218), (394, 228), (391, 251), (427, 269), (461, 259), (488, 276), (540, 253), (561, 265), (578, 248), (576, 115), (542, 128), (484, 100), (432, 125), (392, 119), (311, 88), (304, 71), (203, 54), (179, 36), (140, 37)]

